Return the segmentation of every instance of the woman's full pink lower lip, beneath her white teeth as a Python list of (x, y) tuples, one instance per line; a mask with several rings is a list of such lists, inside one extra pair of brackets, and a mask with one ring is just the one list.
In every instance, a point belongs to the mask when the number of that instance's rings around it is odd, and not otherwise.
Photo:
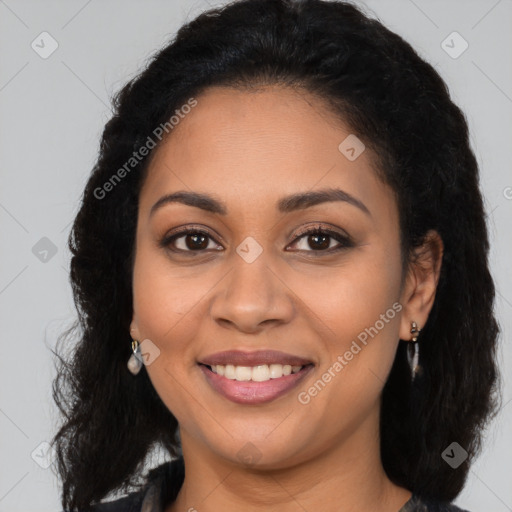
[(283, 375), (265, 382), (231, 380), (199, 365), (210, 386), (222, 396), (237, 404), (263, 404), (288, 393), (313, 369), (307, 365), (297, 373)]

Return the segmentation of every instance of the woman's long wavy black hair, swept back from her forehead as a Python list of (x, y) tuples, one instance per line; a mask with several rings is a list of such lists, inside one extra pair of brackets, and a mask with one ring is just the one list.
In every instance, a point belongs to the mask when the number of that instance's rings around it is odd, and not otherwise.
[[(452, 500), (464, 485), (499, 399), (495, 289), (464, 115), (434, 68), (355, 6), (241, 0), (184, 25), (113, 99), (69, 236), (78, 320), (59, 340), (69, 354), (58, 356), (53, 382), (65, 417), (53, 439), (65, 510), (138, 488), (152, 448), (178, 453), (176, 419), (146, 371), (134, 378), (126, 368), (138, 195), (154, 150), (130, 158), (207, 87), (269, 84), (322, 98), (375, 151), (397, 198), (404, 263), (428, 230), (441, 235), (438, 290), (420, 335), (424, 373), (411, 384), (400, 344), (382, 396), (381, 456), (389, 478), (422, 497)], [(441, 458), (453, 441), (469, 454), (457, 469)]]

